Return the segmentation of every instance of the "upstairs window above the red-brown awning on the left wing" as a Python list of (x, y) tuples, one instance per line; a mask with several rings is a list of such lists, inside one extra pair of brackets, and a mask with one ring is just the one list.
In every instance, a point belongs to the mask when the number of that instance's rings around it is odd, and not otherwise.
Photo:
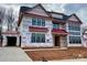
[(40, 18), (32, 18), (32, 25), (45, 26), (45, 20)]

